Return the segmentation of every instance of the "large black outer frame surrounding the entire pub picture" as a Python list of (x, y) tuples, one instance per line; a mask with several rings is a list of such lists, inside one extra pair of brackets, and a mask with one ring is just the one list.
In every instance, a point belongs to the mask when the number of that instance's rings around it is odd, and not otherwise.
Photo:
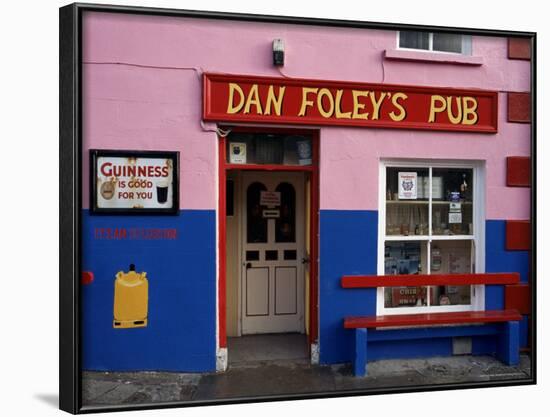
[[(121, 406), (82, 407), (82, 346), (81, 340), (81, 288), (82, 274), (82, 16), (86, 11), (148, 14), (157, 16), (208, 18), (219, 20), (300, 24), (339, 28), (389, 29), (433, 31), (443, 33), (476, 34), (483, 36), (513, 36), (529, 39), (532, 47), (531, 58), (531, 306), (532, 329), (530, 334), (532, 371), (531, 377), (522, 380), (483, 381), (473, 383), (451, 383), (425, 385), (419, 387), (395, 387), (369, 390), (347, 390), (322, 394), (297, 394), (273, 396), (268, 398), (239, 398), (212, 400), (203, 402), (171, 402), (155, 404), (126, 404)], [(241, 13), (221, 13), (151, 7), (131, 7), (95, 4), (69, 4), (59, 10), (59, 101), (60, 101), (60, 226), (59, 226), (59, 408), (72, 414), (98, 411), (122, 411), (154, 408), (169, 408), (211, 404), (234, 404), (243, 402), (278, 401), (308, 398), (329, 398), (357, 396), (366, 394), (403, 393), (438, 391), (465, 388), (503, 387), (531, 385), (537, 382), (537, 36), (533, 32), (507, 30), (465, 29), (457, 27), (438, 27), (431, 25), (407, 25), (366, 21), (318, 19), (305, 17), (266, 16)], [(179, 184), (179, 178), (177, 179)], [(179, 187), (175, 193), (179, 197)], [(177, 197), (177, 198), (178, 198)], [(178, 202), (175, 203), (177, 208)], [(144, 214), (140, 211), (135, 214)], [(151, 212), (154, 213), (154, 212)], [(111, 213), (112, 214), (112, 213)], [(172, 213), (173, 214), (173, 213)]]

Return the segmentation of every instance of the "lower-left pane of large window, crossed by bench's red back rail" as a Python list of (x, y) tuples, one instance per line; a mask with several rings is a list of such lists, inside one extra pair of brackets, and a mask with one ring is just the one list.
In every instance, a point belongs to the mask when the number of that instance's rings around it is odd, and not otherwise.
[[(384, 249), (385, 275), (416, 275), (426, 270), (426, 242), (387, 242)], [(426, 306), (427, 290), (427, 287), (386, 287), (384, 307)]]

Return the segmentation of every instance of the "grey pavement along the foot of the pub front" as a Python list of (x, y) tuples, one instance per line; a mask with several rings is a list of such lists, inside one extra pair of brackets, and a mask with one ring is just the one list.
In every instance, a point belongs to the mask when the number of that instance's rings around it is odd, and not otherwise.
[(369, 362), (369, 374), (352, 375), (350, 364), (311, 365), (305, 358), (241, 361), (223, 373), (171, 372), (83, 373), (84, 406), (172, 401), (238, 399), (426, 384), (519, 380), (528, 378), (530, 359), (518, 367), (490, 356), (452, 356)]

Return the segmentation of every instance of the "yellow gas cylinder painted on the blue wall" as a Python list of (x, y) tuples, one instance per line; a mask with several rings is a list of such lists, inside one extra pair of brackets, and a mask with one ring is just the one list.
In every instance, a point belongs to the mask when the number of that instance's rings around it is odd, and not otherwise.
[(133, 264), (128, 272), (120, 271), (116, 274), (114, 328), (147, 326), (149, 283), (145, 275), (146, 272), (137, 273)]

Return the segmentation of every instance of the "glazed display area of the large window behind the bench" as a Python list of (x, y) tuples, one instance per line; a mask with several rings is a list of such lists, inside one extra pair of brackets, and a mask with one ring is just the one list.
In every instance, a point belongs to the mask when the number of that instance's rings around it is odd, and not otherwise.
[[(384, 275), (476, 272), (474, 169), (385, 167)], [(385, 309), (469, 309), (471, 286), (387, 287)]]

